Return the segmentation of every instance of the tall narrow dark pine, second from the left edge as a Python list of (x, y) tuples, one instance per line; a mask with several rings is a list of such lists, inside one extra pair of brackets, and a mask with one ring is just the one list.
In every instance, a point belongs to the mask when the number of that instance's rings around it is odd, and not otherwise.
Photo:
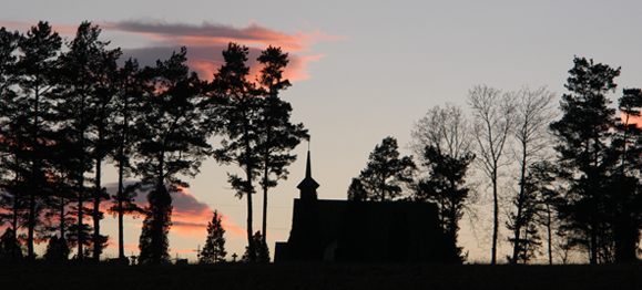
[(28, 198), (28, 257), (33, 251), (35, 227), (47, 190), (48, 146), (51, 145), (52, 90), (57, 87), (57, 63), (62, 40), (48, 22), (40, 21), (19, 40), (16, 64), (20, 92), (13, 100), (16, 115), (11, 131), (17, 134), (14, 189)]

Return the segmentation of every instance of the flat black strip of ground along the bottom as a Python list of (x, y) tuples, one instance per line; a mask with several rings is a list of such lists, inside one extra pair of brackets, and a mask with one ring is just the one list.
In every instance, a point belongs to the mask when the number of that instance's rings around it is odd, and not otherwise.
[(642, 263), (0, 265), (0, 289), (642, 289)]

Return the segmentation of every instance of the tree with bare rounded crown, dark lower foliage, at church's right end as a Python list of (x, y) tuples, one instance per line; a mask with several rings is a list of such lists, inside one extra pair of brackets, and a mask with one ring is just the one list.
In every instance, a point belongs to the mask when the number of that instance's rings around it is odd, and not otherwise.
[(457, 247), (457, 232), (470, 191), (465, 177), (475, 159), (468, 122), (458, 106), (436, 106), (415, 123), (411, 134), (411, 147), (427, 169), (414, 199), (437, 205), (441, 229), (454, 247), (448, 255), (460, 262), (465, 257)]

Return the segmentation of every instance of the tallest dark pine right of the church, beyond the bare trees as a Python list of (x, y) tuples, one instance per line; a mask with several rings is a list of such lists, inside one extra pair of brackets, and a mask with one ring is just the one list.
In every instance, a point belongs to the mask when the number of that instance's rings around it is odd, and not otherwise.
[(604, 197), (612, 166), (608, 147), (615, 111), (608, 107), (611, 101), (605, 93), (615, 90), (613, 79), (620, 75), (620, 69), (584, 58), (575, 56), (573, 62), (564, 85), (569, 93), (560, 102), (562, 118), (550, 125), (558, 139), (558, 164), (570, 184), (559, 211), (562, 227), (579, 234), (573, 235), (574, 242), (585, 247), (591, 263), (597, 263), (609, 258), (601, 249), (610, 244), (604, 235), (609, 230)]

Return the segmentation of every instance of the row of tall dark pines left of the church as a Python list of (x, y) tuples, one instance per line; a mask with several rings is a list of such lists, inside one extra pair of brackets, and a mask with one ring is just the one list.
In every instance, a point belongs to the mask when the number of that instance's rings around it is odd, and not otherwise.
[[(278, 97), (291, 85), (283, 77), (287, 53), (264, 50), (253, 81), (248, 49), (230, 43), (208, 82), (190, 72), (186, 48), (153, 66), (133, 59), (119, 64), (122, 51), (109, 49), (100, 33), (83, 22), (63, 43), (48, 22), (26, 33), (0, 29), (0, 225), (9, 225), (0, 258), (22, 259), (24, 245), (26, 258), (34, 259), (33, 245), (49, 240), (45, 259), (68, 259), (72, 246), (78, 259), (99, 260), (108, 241), (100, 231), (101, 204), (112, 203), (119, 257), (125, 258), (123, 216), (143, 215), (139, 261), (167, 262), (171, 194), (188, 186), (181, 176), (197, 175), (213, 156), (245, 172), (230, 175), (230, 183), (247, 199), (248, 260), (256, 260), (254, 183), (267, 196), (296, 159), (289, 151), (308, 137), (303, 124), (289, 122), (292, 106)], [(221, 136), (220, 146), (208, 144), (213, 135)], [(105, 163), (118, 170), (113, 196), (101, 180)], [(144, 208), (133, 203), (137, 191), (149, 193)], [(224, 257), (224, 250), (216, 255)]]

